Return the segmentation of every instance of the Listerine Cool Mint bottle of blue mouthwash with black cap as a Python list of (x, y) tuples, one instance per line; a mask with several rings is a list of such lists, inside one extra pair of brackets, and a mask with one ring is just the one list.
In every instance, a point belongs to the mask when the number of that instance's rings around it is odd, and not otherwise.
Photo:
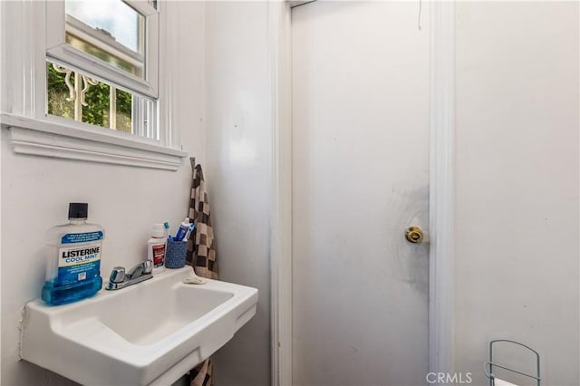
[(88, 204), (69, 204), (69, 223), (48, 231), (43, 301), (73, 303), (101, 290), (104, 230), (87, 223)]

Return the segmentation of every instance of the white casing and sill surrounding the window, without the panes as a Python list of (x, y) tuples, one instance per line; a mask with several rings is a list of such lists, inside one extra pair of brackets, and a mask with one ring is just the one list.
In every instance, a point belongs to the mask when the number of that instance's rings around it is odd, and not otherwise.
[(48, 115), (46, 25), (47, 9), (53, 2), (0, 2), (0, 35), (3, 36), (0, 54), (5, 58), (5, 65), (0, 67), (0, 124), (9, 133), (14, 153), (149, 169), (179, 169), (188, 152), (183, 151), (179, 128), (175, 125), (178, 74), (171, 70), (179, 54), (174, 51), (178, 25), (169, 21), (176, 17), (177, 11), (169, 2), (158, 2), (158, 25), (163, 28), (159, 28), (156, 63), (162, 71), (158, 74), (156, 106), (159, 140), (152, 140)]

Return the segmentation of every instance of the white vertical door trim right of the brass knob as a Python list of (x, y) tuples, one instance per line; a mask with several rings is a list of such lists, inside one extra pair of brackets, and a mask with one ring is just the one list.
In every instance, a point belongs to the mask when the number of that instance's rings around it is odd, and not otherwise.
[(429, 370), (453, 372), (455, 5), (431, 7)]

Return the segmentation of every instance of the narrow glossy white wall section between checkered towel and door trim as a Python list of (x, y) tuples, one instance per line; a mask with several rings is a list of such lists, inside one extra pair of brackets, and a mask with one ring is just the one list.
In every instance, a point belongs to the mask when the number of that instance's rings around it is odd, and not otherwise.
[(266, 2), (206, 5), (207, 179), (222, 280), (259, 290), (256, 316), (215, 355), (215, 384), (270, 384), (272, 113)]

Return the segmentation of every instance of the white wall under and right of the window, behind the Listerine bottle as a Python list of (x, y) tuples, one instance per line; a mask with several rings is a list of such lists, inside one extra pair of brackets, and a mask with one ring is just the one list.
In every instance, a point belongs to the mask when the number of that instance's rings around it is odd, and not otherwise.
[[(203, 161), (204, 5), (171, 2), (179, 23), (176, 127), (184, 150)], [(3, 55), (3, 59), (6, 55)], [(10, 58), (5, 59), (10, 60)], [(5, 63), (3, 63), (5, 64)], [(4, 89), (3, 89), (4, 91)], [(130, 266), (146, 256), (153, 223), (176, 226), (188, 213), (191, 169), (177, 172), (16, 155), (2, 130), (2, 385), (71, 384), (53, 372), (18, 362), (18, 320), (24, 303), (44, 284), (44, 231), (67, 220), (68, 203), (89, 203), (92, 222), (105, 228), (102, 276), (113, 265)]]

